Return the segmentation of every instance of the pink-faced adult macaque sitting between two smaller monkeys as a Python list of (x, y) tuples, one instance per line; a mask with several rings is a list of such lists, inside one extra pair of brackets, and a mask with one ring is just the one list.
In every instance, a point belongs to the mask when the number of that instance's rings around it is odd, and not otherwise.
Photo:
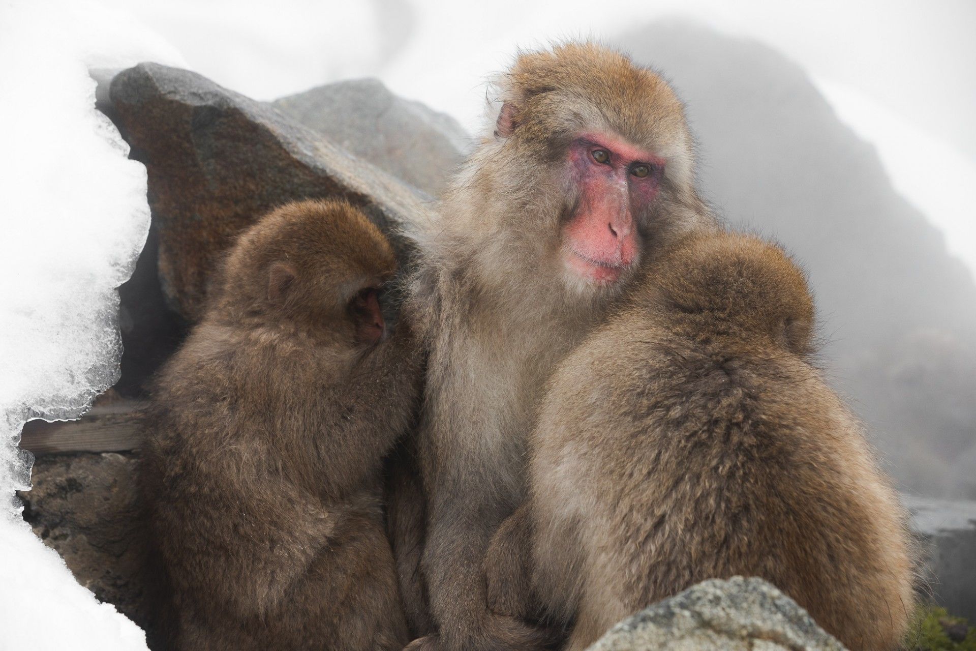
[(682, 104), (653, 71), (570, 44), (520, 56), (499, 92), (493, 133), (445, 194), (410, 300), (429, 354), (416, 433), (427, 528), (412, 557), (436, 629), (414, 648), (545, 641), (488, 610), (482, 573), (522, 500), (537, 398), (642, 264), (712, 224)]

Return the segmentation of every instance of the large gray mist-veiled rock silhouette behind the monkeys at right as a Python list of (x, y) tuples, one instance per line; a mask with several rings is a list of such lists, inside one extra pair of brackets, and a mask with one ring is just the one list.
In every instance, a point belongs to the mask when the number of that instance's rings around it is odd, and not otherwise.
[[(952, 474), (960, 447), (976, 449), (976, 376), (965, 371), (976, 361), (976, 284), (941, 232), (892, 188), (874, 147), (809, 74), (775, 50), (685, 23), (615, 42), (663, 70), (687, 102), (702, 188), (719, 213), (775, 236), (810, 272), (826, 366), (896, 478), (964, 497), (952, 487), (964, 477)], [(941, 350), (917, 344), (933, 337)], [(924, 372), (904, 372), (919, 360)]]

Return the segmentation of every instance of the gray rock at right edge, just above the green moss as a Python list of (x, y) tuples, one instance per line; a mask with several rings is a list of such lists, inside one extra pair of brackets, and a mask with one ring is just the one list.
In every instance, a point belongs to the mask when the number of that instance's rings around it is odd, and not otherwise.
[(923, 596), (976, 622), (976, 502), (903, 495), (921, 544)]

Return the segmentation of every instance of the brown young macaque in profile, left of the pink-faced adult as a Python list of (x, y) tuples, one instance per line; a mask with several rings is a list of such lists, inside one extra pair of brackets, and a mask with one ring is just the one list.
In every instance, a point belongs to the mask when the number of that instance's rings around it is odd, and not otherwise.
[(177, 649), (401, 649), (380, 470), (419, 363), (388, 242), (346, 202), (245, 231), (156, 382), (142, 489)]

